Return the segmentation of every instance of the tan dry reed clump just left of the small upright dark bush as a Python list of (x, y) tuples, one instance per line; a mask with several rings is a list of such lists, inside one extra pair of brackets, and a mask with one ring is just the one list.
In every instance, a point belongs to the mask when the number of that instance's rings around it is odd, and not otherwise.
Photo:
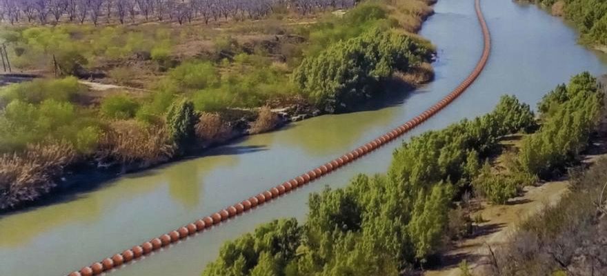
[(166, 128), (142, 126), (134, 120), (112, 122), (99, 144), (101, 159), (121, 164), (141, 162), (141, 167), (168, 161), (175, 155), (175, 144), (170, 142)]

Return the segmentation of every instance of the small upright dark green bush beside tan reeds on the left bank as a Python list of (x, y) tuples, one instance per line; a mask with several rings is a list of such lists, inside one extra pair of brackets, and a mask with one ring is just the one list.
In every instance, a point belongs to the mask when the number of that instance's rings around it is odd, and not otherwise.
[(198, 116), (191, 101), (179, 99), (173, 102), (166, 113), (170, 140), (183, 150), (194, 139), (197, 122)]

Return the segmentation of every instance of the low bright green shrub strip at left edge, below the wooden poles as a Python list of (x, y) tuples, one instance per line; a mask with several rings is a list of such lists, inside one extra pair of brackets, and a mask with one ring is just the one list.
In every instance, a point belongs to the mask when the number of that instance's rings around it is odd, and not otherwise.
[(26, 103), (41, 103), (46, 99), (71, 101), (81, 90), (78, 80), (74, 77), (34, 79), (0, 88), (0, 102), (9, 103), (19, 100)]

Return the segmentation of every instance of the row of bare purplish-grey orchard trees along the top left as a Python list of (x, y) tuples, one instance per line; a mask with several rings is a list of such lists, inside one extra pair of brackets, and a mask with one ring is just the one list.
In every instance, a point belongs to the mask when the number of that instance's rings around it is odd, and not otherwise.
[(202, 20), (221, 18), (259, 19), (286, 7), (301, 14), (327, 8), (350, 8), (358, 0), (0, 0), (0, 21), (59, 23), (61, 21), (94, 25), (105, 18), (120, 23), (145, 21)]

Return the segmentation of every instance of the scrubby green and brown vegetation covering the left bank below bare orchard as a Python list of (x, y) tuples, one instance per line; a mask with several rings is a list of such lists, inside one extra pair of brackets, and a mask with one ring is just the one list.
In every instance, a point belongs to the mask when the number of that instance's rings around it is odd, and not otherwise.
[(31, 26), (25, 6), (5, 13), (14, 26), (0, 39), (13, 69), (44, 78), (0, 88), (0, 209), (74, 175), (141, 170), (292, 119), (364, 108), (388, 83), (432, 78), (433, 47), (413, 34), (432, 1), (340, 2), (237, 6), (217, 17), (197, 8), (188, 22), (150, 22), (144, 10), (126, 21), (109, 8), (107, 21), (82, 24), (68, 10), (54, 21), (37, 11)]

